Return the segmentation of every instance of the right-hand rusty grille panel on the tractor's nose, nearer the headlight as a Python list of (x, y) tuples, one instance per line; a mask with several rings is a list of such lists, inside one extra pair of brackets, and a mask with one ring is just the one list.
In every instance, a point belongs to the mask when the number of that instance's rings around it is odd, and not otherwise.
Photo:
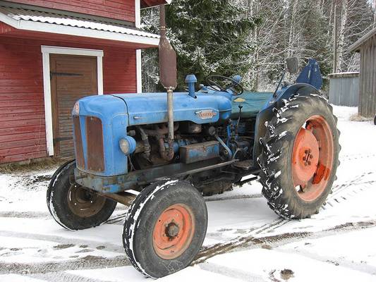
[(102, 121), (94, 116), (86, 117), (87, 169), (104, 171)]

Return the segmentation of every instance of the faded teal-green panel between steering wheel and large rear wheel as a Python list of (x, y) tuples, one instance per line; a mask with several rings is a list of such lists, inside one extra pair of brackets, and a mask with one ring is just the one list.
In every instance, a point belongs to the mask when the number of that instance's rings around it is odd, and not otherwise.
[(272, 95), (273, 93), (271, 92), (245, 91), (241, 95), (234, 96), (232, 99), (231, 118), (239, 117), (239, 105), (243, 106), (241, 109), (241, 118), (255, 118)]

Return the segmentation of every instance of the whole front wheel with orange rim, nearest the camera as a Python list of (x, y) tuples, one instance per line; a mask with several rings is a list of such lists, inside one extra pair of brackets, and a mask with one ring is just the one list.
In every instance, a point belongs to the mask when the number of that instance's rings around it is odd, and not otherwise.
[(205, 200), (182, 180), (147, 186), (128, 210), (123, 229), (126, 255), (145, 276), (159, 278), (188, 266), (207, 229)]

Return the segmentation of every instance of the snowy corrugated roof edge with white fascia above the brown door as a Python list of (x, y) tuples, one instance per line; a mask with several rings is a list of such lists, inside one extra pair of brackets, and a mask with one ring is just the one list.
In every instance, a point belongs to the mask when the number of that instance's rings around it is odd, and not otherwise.
[[(133, 27), (127, 22), (123, 22), (120, 20), (111, 20), (110, 18), (90, 18), (85, 15), (81, 17), (79, 16), (68, 16), (63, 13), (59, 13), (58, 10), (56, 11), (37, 11), (28, 8), (21, 8), (21, 7), (12, 7), (12, 6), (0, 6), (0, 21), (11, 25), (18, 29), (25, 29), (25, 30), (36, 30), (36, 31), (44, 31), (38, 30), (36, 27), (33, 29), (28, 25), (28, 23), (43, 23), (49, 25), (56, 25), (61, 27), (78, 27), (80, 29), (85, 30), (99, 30), (102, 32), (111, 32), (111, 33), (118, 33), (121, 35), (132, 35), (135, 37), (149, 37), (150, 39), (154, 39), (153, 44), (158, 44), (155, 39), (159, 41), (159, 35), (154, 35), (150, 32), (145, 32), (145, 30), (141, 30), (139, 28)], [(54, 32), (54, 29), (46, 30), (47, 32)], [(63, 33), (56, 32), (56, 33)], [(67, 33), (68, 34), (68, 33)], [(74, 35), (74, 34), (73, 34)], [(86, 36), (83, 33), (81, 36)], [(95, 36), (90, 36), (95, 37)], [(107, 35), (109, 37), (109, 35)], [(110, 36), (111, 37), (111, 36)], [(111, 39), (111, 38), (107, 39)], [(124, 41), (124, 40), (123, 40)]]

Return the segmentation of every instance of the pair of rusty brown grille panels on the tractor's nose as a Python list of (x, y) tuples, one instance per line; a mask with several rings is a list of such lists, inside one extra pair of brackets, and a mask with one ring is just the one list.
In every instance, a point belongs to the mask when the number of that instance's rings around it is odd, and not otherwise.
[(75, 159), (78, 168), (89, 171), (104, 171), (104, 149), (103, 149), (103, 131), (102, 121), (95, 116), (87, 116), (86, 123), (86, 156), (87, 164), (83, 152), (83, 138), (81, 135), (80, 117), (73, 116), (73, 125), (75, 133)]

